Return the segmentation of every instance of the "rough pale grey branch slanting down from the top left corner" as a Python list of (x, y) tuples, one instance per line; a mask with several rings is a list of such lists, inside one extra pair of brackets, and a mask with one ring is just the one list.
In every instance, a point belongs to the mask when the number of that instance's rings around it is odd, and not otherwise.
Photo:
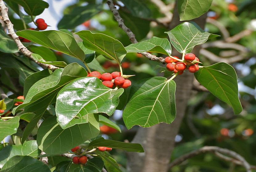
[(0, 0), (0, 12), (2, 13), (2, 18), (3, 21), (7, 27), (8, 30), (8, 34), (10, 35), (10, 37), (14, 40), (14, 42), (17, 44), (19, 51), (21, 51), (25, 56), (27, 56), (28, 58), (30, 58), (31, 60), (35, 61), (35, 63), (37, 63), (39, 66), (41, 66), (42, 68), (48, 68), (52, 71), (56, 70), (57, 67), (53, 66), (53, 65), (47, 65), (47, 64), (43, 64), (40, 63), (38, 61), (36, 61), (32, 56), (32, 52), (30, 52), (23, 44), (22, 42), (19, 40), (19, 37), (16, 35), (16, 33), (14, 32), (14, 28), (13, 28), (13, 24), (11, 23), (9, 17), (8, 17), (8, 8), (5, 6), (3, 0)]

